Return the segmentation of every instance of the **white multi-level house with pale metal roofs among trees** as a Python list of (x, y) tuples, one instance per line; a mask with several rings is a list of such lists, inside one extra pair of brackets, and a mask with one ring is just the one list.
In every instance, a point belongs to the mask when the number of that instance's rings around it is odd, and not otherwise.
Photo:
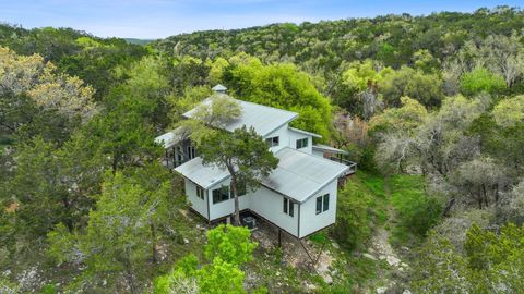
[[(223, 86), (214, 88), (226, 95)], [(233, 98), (231, 98), (233, 99)], [(211, 97), (203, 103), (210, 102)], [(306, 237), (335, 222), (338, 179), (355, 172), (355, 164), (326, 159), (326, 154), (344, 151), (313, 145), (320, 135), (289, 126), (295, 112), (236, 100), (242, 113), (224, 128), (254, 127), (279, 159), (278, 167), (254, 191), (239, 191), (240, 210), (250, 211), (298, 238)], [(194, 109), (183, 114), (191, 118)], [(169, 132), (156, 138), (166, 149), (168, 167), (184, 177), (191, 208), (207, 221), (223, 220), (234, 213), (229, 174), (217, 167), (203, 166), (190, 142)]]

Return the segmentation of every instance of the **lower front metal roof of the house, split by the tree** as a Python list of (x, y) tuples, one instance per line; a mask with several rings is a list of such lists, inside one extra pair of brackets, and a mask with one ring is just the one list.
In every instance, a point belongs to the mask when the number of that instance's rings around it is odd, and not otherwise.
[[(278, 167), (262, 181), (262, 185), (298, 203), (314, 196), (348, 169), (344, 164), (291, 148), (281, 149), (275, 157), (279, 159)], [(227, 171), (217, 167), (204, 167), (201, 158), (194, 158), (175, 171), (204, 188), (229, 176)]]

